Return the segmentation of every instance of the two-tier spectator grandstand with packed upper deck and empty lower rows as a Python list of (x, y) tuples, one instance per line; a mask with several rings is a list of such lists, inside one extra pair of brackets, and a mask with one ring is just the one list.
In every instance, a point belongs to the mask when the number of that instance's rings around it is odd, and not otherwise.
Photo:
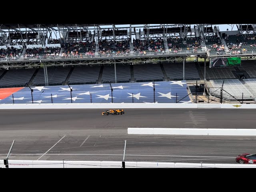
[[(215, 89), (225, 80), (232, 96), (255, 98), (254, 24), (225, 32), (209, 24), (83, 25), (1, 28), (0, 87), (186, 80)], [(227, 56), (241, 56), (241, 66), (209, 67)]]

